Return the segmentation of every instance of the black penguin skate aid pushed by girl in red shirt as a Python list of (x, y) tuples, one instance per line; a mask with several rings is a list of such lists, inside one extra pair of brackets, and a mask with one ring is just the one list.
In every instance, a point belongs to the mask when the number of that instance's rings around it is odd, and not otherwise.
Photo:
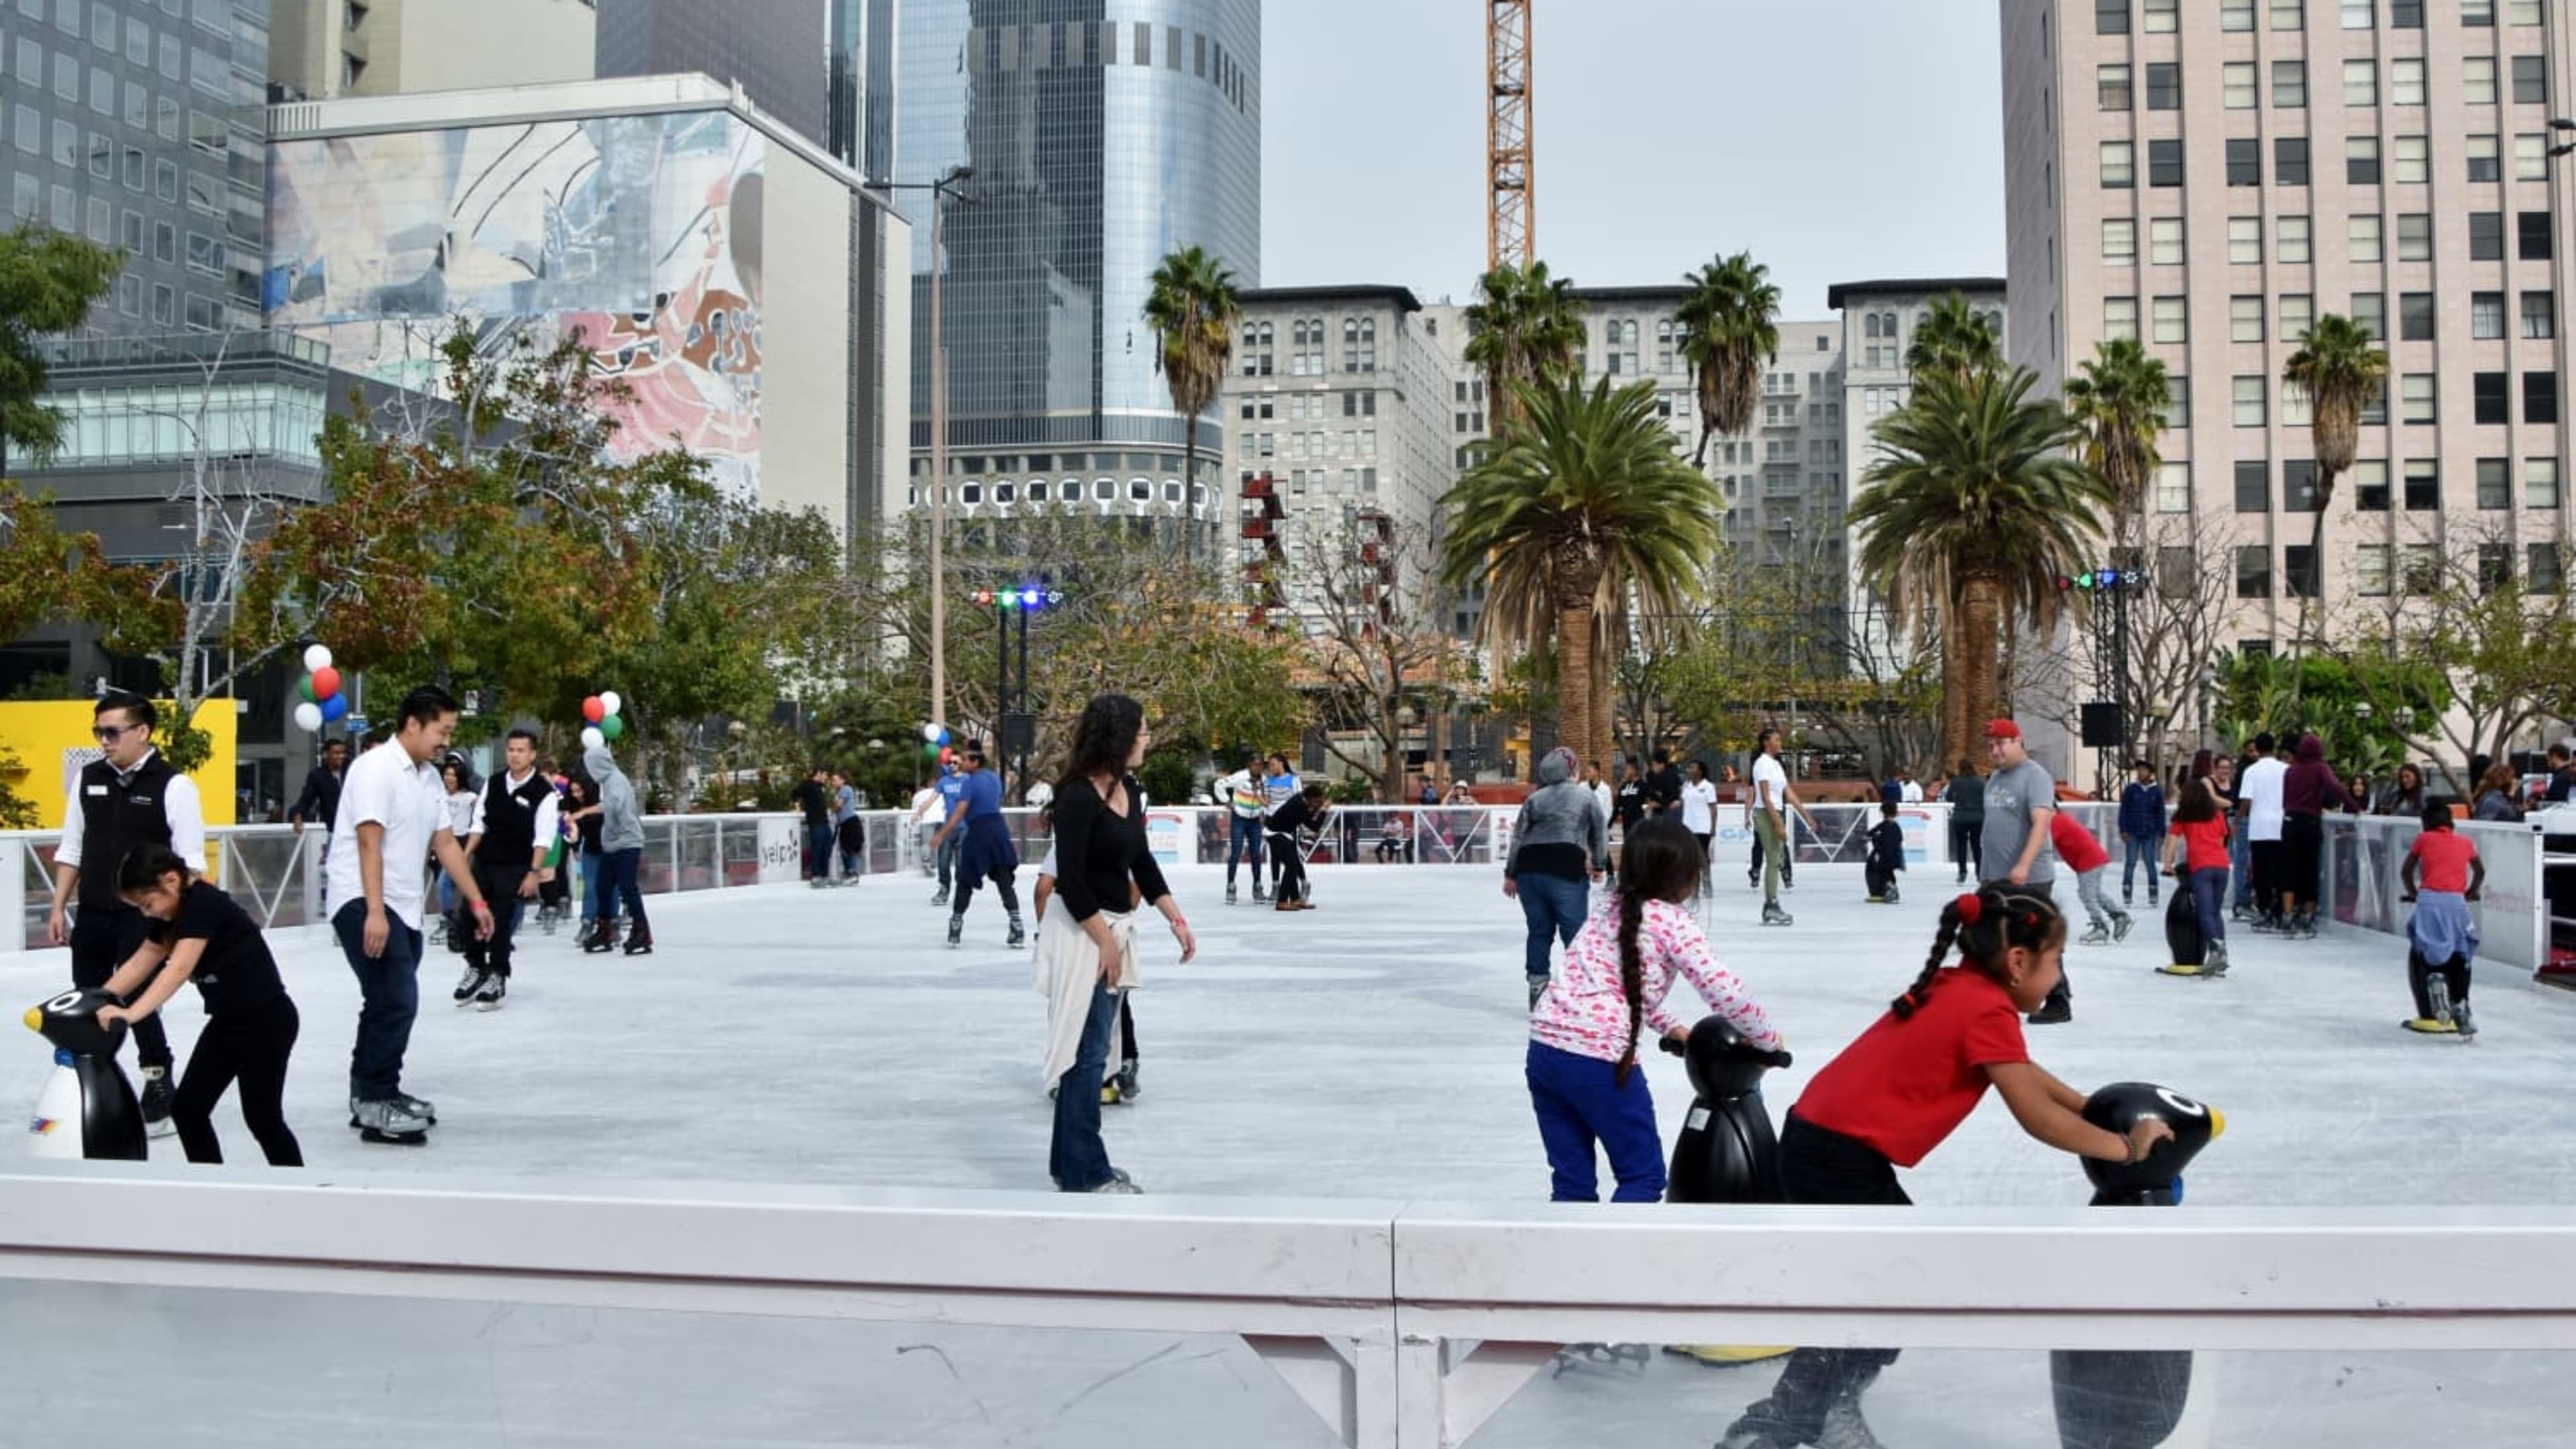
[[(2174, 1207), (2182, 1168), (2226, 1132), (2226, 1116), (2148, 1083), (2112, 1083), (2084, 1101), (2084, 1122), (2128, 1134), (2138, 1122), (2164, 1122), (2172, 1142), (2138, 1163), (2084, 1158), (2094, 1207)], [(2048, 1356), (2063, 1449), (2154, 1449), (2172, 1441), (2192, 1397), (2187, 1351), (2058, 1351)]]

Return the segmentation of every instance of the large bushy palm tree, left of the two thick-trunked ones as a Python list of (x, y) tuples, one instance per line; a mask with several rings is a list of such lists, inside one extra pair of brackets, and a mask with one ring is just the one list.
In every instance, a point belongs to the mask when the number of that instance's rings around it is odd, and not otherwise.
[(1512, 402), (1522, 423), (1443, 498), (1440, 578), (1486, 583), (1484, 629), (1504, 652), (1553, 642), (1558, 740), (1597, 761), (1610, 740), (1595, 696), (1623, 637), (1597, 619), (1631, 598), (1677, 614), (1718, 552), (1723, 503), (1674, 451), (1651, 382), (1522, 384)]

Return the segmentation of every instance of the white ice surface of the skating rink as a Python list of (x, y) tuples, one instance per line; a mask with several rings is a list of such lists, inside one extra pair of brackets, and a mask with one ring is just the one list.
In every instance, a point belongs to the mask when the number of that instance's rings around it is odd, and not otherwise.
[[(1280, 915), (1249, 892), (1221, 905), (1216, 869), (1175, 871), (1200, 957), (1180, 967), (1170, 936), (1146, 931), (1144, 1093), (1108, 1109), (1113, 1160), (1149, 1194), (1543, 1199), (1520, 1080), (1522, 926), (1494, 869), (1350, 866), (1319, 884), (1316, 910)], [(1759, 895), (1741, 874), (1721, 871), (1705, 910), (1721, 959), (1798, 1052), (1772, 1078), (1775, 1114), (1914, 977), (1947, 890), (1945, 871), (1914, 871), (1901, 905), (1865, 905), (1850, 866), (1808, 866), (1798, 884), (1790, 928), (1754, 923)], [(497, 1013), (451, 1008), (459, 957), (433, 949), (404, 1085), (435, 1098), (440, 1127), (417, 1150), (343, 1127), (355, 985), (327, 938), (278, 933), (304, 1011), (289, 1116), (309, 1171), (1046, 1189), (1043, 1003), (1028, 959), (1002, 949), (989, 895), (956, 951), (927, 897), (920, 877), (652, 897), (657, 954), (582, 957), (569, 928), (531, 936)], [(2069, 949), (2076, 1018), (2030, 1039), (2079, 1088), (2143, 1078), (2226, 1111), (2192, 1204), (2576, 1199), (2576, 995), (2481, 969), (2481, 1036), (2463, 1044), (2398, 1029), (2411, 1016), (2403, 946), (2385, 936), (2239, 928), (2218, 982), (2159, 977), (2161, 959), (2161, 915), (2141, 895), (2125, 944)], [(39, 1000), (59, 969), (59, 957), (0, 967), (0, 1003)], [(196, 1021), (191, 995), (173, 1036)], [(44, 1070), (41, 1044), (21, 1036), (0, 1052), (0, 1098), (33, 1101)], [(1646, 1073), (1669, 1140), (1687, 1083), (1654, 1052)], [(232, 1104), (216, 1129), (237, 1163), (258, 1160)], [(185, 1171), (175, 1142), (155, 1147)], [(2074, 1160), (1991, 1098), (1906, 1189), (1919, 1204), (2087, 1196)], [(124, 1361), (100, 1354), (111, 1343)], [(1190, 1336), (0, 1281), (0, 1361), (33, 1387), (0, 1444), (1332, 1441), (1242, 1343)], [(2215, 1441), (2416, 1444), (2476, 1410), (2481, 1449), (2563, 1444), (2576, 1413), (2563, 1369), (2496, 1354), (2236, 1354), (2215, 1366)], [(1708, 1444), (1770, 1374), (1677, 1356), (1579, 1366), (1530, 1385), (1473, 1444)], [(103, 1408), (126, 1392), (129, 1408)], [(1891, 1449), (2043, 1446), (2056, 1441), (2045, 1395), (2038, 1354), (1917, 1354), (1868, 1408)]]

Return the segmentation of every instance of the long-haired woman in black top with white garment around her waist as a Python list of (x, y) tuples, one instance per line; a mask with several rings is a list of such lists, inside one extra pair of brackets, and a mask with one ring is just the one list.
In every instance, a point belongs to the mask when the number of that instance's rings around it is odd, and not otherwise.
[(1048, 1000), (1046, 1078), (1056, 1088), (1048, 1173), (1061, 1191), (1136, 1191), (1100, 1142), (1110, 1026), (1118, 993), (1136, 985), (1133, 908), (1162, 910), (1182, 962), (1198, 954), (1146, 848), (1144, 797), (1131, 771), (1151, 737), (1141, 704), (1103, 694), (1082, 709), (1072, 761), (1056, 784), (1056, 902), (1064, 910), (1038, 923), (1038, 982)]

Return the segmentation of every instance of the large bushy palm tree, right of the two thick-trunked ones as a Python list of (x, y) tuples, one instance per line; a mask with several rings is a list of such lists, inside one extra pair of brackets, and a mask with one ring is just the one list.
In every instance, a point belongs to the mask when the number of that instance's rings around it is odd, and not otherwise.
[(2110, 485), (2069, 456), (2074, 420), (2032, 400), (2035, 384), (2030, 369), (1917, 376), (1914, 397), (1878, 423), (1880, 456), (1852, 500), (1860, 570), (1899, 621), (1958, 608), (1942, 660), (1947, 761), (1968, 758), (1971, 722), (1996, 714), (1999, 632), (2056, 619), (2056, 580), (2079, 570), (2110, 503)]

